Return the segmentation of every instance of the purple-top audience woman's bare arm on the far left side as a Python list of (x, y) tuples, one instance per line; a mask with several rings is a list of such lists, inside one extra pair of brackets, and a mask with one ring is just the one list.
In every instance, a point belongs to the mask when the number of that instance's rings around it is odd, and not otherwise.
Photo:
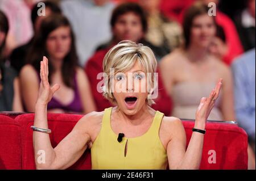
[(22, 70), (20, 70), (19, 79), (26, 111), (34, 112), (39, 90), (39, 81), (36, 70), (31, 65), (25, 65)]

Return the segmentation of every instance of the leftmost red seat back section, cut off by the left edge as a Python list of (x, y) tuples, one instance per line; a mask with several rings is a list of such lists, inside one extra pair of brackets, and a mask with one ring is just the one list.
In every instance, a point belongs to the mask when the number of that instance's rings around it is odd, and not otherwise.
[(20, 124), (0, 115), (0, 169), (22, 169)]

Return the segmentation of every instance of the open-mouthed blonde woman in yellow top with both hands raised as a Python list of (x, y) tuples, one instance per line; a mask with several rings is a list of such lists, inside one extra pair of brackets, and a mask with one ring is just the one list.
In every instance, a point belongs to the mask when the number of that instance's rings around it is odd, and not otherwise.
[[(156, 79), (152, 50), (122, 41), (106, 54), (103, 63), (104, 95), (116, 107), (82, 117), (57, 146), (52, 148), (47, 124), (47, 104), (59, 85), (49, 86), (48, 60), (40, 62), (40, 91), (32, 129), (35, 160), (46, 151), (46, 162), (37, 169), (66, 169), (91, 147), (92, 169), (199, 169), (205, 123), (218, 98), (221, 81), (208, 98), (202, 98), (186, 151), (183, 124), (150, 107)], [(150, 74), (151, 73), (151, 74)], [(137, 82), (136, 85), (134, 82)], [(120, 91), (121, 90), (121, 91)]]

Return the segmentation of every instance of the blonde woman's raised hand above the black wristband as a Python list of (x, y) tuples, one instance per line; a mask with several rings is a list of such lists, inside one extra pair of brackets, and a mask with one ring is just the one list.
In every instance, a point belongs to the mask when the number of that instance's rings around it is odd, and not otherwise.
[(210, 92), (210, 95), (208, 98), (201, 98), (199, 107), (197, 108), (197, 111), (196, 111), (195, 128), (197, 129), (205, 128), (205, 123), (208, 119), (210, 111), (212, 111), (212, 108), (214, 107), (214, 103), (218, 98), (218, 95), (220, 94), (221, 85), (222, 85), (222, 78), (219, 79), (218, 83), (216, 84), (212, 92)]

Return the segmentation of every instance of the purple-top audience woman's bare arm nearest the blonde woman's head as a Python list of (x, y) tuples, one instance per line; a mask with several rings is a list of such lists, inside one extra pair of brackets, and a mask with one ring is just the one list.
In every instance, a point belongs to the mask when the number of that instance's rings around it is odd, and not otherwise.
[(88, 77), (81, 68), (77, 70), (77, 83), (84, 113), (96, 111)]

